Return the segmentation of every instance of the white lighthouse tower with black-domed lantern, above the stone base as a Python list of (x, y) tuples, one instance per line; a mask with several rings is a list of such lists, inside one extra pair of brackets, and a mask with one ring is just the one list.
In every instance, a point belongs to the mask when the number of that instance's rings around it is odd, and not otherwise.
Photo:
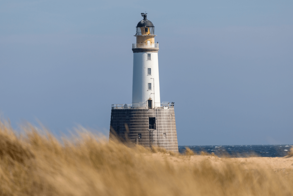
[(144, 19), (136, 26), (136, 43), (133, 51), (132, 106), (160, 107), (160, 83), (158, 51), (155, 43), (155, 27), (142, 13)]

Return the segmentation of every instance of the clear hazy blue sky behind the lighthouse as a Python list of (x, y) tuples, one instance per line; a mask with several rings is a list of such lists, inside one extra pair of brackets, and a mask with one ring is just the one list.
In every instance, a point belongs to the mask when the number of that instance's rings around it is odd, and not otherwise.
[(0, 116), (109, 134), (146, 11), (178, 145), (293, 144), (293, 1), (0, 1)]

